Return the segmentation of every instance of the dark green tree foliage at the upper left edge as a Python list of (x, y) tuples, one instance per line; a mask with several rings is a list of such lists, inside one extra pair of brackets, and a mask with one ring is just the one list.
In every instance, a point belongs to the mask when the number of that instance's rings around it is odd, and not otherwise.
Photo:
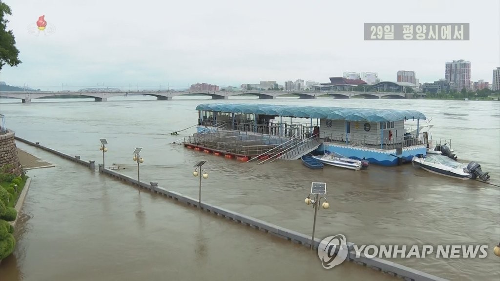
[(3, 65), (17, 66), (19, 50), (15, 47), (15, 38), (12, 30), (6, 30), (8, 20), (5, 15), (12, 15), (10, 7), (0, 1), (0, 70)]

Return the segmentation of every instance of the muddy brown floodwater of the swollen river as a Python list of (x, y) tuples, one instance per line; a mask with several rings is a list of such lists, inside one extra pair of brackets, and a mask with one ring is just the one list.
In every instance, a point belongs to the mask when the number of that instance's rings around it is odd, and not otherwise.
[[(330, 208), (318, 212), (317, 237), (344, 234), (356, 244), (487, 244), (486, 258), (390, 259), (451, 280), (498, 280), (500, 188), (456, 180), (409, 165), (351, 171), (310, 170), (297, 161), (257, 165), (188, 150), (172, 131), (197, 122), (197, 104), (212, 100), (115, 97), (6, 103), (0, 111), (16, 135), (56, 150), (102, 162), (136, 176), (135, 147), (143, 147), (140, 178), (197, 198), (193, 164), (209, 174), (202, 199), (310, 234), (313, 209), (303, 203), (311, 181), (327, 182)], [(500, 102), (407, 99), (275, 99), (236, 102), (417, 109), (432, 117), (434, 139), (451, 138), (462, 161), (475, 160), (500, 184)], [(344, 262), (323, 269), (315, 252), (279, 238), (176, 205), (164, 197), (92, 173), (54, 155), (19, 144), (56, 165), (30, 170), (30, 188), (15, 254), (2, 262), (6, 280), (168, 279), (218, 280), (350, 278), (390, 280)], [(263, 277), (262, 277), (263, 275)], [(22, 278), (21, 278), (22, 277)]]

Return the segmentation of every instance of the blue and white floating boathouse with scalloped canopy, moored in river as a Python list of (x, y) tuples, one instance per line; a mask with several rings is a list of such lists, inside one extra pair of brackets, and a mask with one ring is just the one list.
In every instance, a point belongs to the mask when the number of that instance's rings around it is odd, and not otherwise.
[[(184, 146), (242, 161), (293, 160), (326, 150), (393, 166), (426, 155), (429, 145), (419, 131), (426, 117), (417, 110), (247, 103), (205, 103), (196, 110), (198, 132), (184, 138)], [(415, 133), (405, 128), (408, 120), (416, 120)]]

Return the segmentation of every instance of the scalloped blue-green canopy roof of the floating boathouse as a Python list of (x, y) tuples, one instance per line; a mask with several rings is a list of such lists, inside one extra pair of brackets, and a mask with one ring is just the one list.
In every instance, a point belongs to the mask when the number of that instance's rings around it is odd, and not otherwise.
[(265, 114), (282, 117), (319, 118), (331, 120), (347, 120), (370, 122), (392, 122), (405, 119), (425, 119), (425, 115), (417, 110), (372, 109), (355, 107), (296, 106), (278, 104), (251, 103), (204, 103), (196, 106), (196, 110), (234, 112), (249, 114)]

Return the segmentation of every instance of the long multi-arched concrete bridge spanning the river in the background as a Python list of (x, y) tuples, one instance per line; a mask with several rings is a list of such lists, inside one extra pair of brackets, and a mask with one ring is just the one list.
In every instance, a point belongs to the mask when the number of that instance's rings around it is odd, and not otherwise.
[(1, 97), (19, 98), (22, 102), (31, 102), (31, 99), (59, 96), (59, 95), (74, 95), (93, 97), (95, 101), (105, 101), (109, 97), (128, 94), (144, 94), (156, 96), (158, 100), (170, 100), (178, 95), (209, 95), (212, 99), (227, 99), (229, 96), (238, 96), (243, 94), (256, 95), (258, 98), (272, 99), (283, 95), (296, 95), (299, 98), (316, 98), (319, 96), (332, 96), (334, 98), (406, 98), (410, 93), (404, 92), (377, 92), (377, 91), (2, 91)]

